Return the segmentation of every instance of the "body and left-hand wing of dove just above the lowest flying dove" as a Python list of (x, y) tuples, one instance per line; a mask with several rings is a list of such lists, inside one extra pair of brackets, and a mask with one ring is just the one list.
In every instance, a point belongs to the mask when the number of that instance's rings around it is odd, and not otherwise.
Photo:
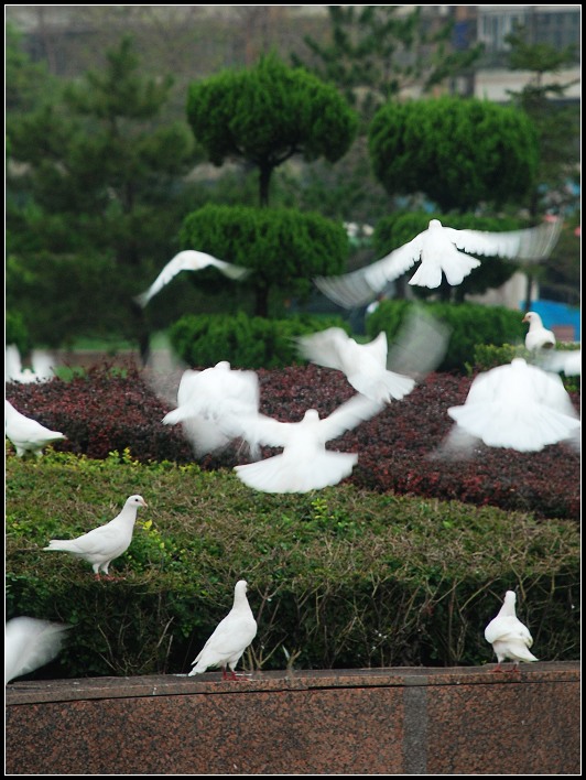
[(387, 334), (381, 331), (368, 344), (358, 344), (340, 327), (300, 336), (300, 354), (312, 362), (346, 375), (359, 393), (382, 403), (402, 399), (415, 387), (415, 380), (387, 370)]

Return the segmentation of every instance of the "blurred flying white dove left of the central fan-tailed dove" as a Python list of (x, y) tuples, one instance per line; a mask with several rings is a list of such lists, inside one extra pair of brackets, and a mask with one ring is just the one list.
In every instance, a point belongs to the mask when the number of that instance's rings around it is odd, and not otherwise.
[[(230, 420), (257, 414), (259, 400), (257, 373), (231, 369), (230, 364), (223, 360), (203, 371), (184, 371), (177, 390), (177, 408), (165, 414), (163, 423), (182, 423), (199, 457), (227, 446), (235, 438), (227, 432), (231, 430)], [(254, 443), (249, 446), (251, 457), (258, 457), (258, 446)]]

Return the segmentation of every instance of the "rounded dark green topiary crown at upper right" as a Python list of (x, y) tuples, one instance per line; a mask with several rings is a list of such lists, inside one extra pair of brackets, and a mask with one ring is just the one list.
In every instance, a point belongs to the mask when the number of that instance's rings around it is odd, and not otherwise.
[(527, 195), (539, 139), (518, 108), (445, 96), (380, 108), (369, 128), (369, 154), (389, 195), (423, 193), (443, 212), (464, 212)]

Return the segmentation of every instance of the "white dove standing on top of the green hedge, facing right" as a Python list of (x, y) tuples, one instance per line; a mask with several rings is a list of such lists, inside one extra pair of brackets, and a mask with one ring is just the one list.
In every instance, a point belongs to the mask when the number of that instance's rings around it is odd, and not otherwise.
[(52, 539), (43, 550), (68, 552), (90, 563), (96, 579), (100, 579), (100, 571), (106, 575), (106, 579), (112, 579), (108, 575), (108, 566), (130, 546), (138, 509), (146, 506), (142, 496), (130, 496), (120, 514), (110, 522), (77, 539)]

